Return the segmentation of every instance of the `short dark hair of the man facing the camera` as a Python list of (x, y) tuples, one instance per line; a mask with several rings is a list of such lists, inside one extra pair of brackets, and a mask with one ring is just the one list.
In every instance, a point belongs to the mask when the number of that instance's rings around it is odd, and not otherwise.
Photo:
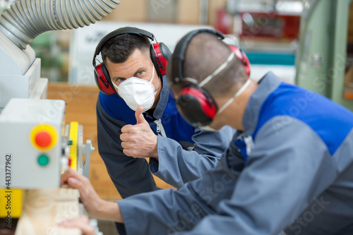
[(107, 65), (107, 57), (113, 63), (124, 63), (136, 50), (150, 54), (150, 40), (142, 35), (124, 33), (106, 42), (102, 47), (103, 63)]

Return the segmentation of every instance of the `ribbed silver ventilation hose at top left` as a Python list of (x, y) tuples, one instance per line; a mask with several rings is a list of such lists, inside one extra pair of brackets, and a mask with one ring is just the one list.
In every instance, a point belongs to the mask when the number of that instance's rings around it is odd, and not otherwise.
[(95, 23), (112, 13), (119, 0), (20, 0), (0, 16), (0, 30), (25, 49), (43, 32)]

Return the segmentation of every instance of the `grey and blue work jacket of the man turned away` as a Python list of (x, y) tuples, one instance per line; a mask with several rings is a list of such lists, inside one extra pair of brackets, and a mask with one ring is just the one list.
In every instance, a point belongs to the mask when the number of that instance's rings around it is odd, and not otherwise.
[(127, 234), (353, 234), (353, 113), (261, 79), (215, 169), (119, 200)]

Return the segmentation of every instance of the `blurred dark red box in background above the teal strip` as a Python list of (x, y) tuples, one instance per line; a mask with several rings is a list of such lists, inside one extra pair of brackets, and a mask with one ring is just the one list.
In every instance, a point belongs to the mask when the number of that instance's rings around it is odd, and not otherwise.
[(242, 32), (240, 38), (269, 37), (297, 39), (300, 16), (278, 13), (240, 13)]

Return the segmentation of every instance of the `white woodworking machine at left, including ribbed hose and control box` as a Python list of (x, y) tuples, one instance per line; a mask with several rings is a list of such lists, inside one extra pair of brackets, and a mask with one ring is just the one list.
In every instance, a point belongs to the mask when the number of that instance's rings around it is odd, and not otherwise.
[[(40, 78), (40, 59), (29, 44), (42, 32), (95, 23), (116, 4), (20, 0), (0, 14), (0, 217), (19, 217), (20, 189), (57, 188), (68, 166), (88, 176), (94, 148), (90, 140), (83, 144), (83, 126), (65, 125), (65, 102), (46, 100), (48, 79)], [(8, 192), (12, 207), (5, 210)]]

